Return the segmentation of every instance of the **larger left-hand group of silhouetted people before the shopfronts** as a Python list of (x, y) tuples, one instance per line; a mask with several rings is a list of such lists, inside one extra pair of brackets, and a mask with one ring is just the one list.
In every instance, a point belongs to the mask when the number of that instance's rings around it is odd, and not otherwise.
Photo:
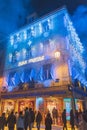
[[(11, 111), (7, 118), (5, 113), (2, 113), (0, 116), (0, 130), (4, 130), (5, 126), (8, 127), (8, 130), (15, 130), (15, 127), (17, 130), (32, 130), (34, 122), (36, 123), (37, 130), (40, 130), (41, 121), (42, 114), (39, 110), (34, 112), (32, 108), (26, 107), (24, 112), (14, 113), (14, 111)], [(45, 130), (52, 130), (50, 112), (45, 117)]]

